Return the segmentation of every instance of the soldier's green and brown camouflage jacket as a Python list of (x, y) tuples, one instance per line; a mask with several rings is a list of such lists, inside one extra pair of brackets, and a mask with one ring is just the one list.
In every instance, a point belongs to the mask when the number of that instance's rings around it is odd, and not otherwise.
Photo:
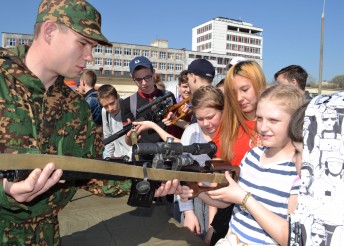
[[(0, 152), (93, 158), (96, 138), (87, 102), (58, 77), (45, 89), (22, 61), (28, 47), (0, 48)], [(58, 245), (57, 213), (75, 193), (74, 182), (55, 185), (30, 203), (17, 203), (0, 183), (1, 245)]]

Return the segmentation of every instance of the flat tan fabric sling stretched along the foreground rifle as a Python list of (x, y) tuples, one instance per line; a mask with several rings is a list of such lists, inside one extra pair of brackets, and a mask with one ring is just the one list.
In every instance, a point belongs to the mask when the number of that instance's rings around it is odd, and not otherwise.
[[(0, 170), (33, 170), (43, 168), (47, 163), (54, 162), (57, 169), (76, 172), (87, 172), (143, 179), (141, 166), (127, 165), (103, 160), (78, 158), (71, 156), (45, 155), (45, 154), (0, 154)], [(165, 169), (147, 168), (149, 180), (173, 180), (187, 182), (228, 183), (224, 174), (196, 173), (173, 171)]]

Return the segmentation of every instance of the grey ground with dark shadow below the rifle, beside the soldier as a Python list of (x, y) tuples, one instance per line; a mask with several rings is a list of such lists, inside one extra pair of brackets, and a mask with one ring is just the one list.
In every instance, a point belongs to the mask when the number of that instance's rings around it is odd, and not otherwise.
[(104, 198), (79, 190), (60, 213), (62, 246), (205, 245), (170, 216), (170, 206), (134, 208), (127, 197)]

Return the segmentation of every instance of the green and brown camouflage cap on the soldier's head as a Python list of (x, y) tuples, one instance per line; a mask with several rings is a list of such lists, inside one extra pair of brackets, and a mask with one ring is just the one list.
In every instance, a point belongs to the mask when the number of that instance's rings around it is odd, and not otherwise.
[(101, 15), (85, 0), (42, 0), (36, 23), (54, 21), (101, 45), (112, 44), (101, 33)]

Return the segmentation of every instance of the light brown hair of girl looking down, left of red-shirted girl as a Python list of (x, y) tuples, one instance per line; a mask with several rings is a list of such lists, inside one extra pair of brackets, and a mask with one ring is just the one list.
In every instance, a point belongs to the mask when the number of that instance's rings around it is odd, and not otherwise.
[(193, 110), (200, 108), (214, 108), (223, 111), (224, 96), (220, 89), (214, 86), (202, 86), (192, 94)]

